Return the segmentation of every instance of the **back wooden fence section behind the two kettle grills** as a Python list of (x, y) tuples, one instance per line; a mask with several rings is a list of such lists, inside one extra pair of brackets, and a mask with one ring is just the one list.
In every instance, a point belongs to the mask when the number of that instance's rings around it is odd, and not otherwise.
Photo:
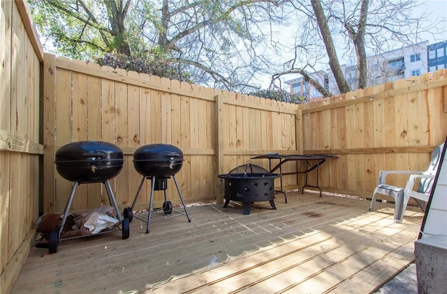
[[(131, 205), (140, 183), (132, 160), (142, 145), (166, 143), (182, 149), (185, 160), (176, 177), (187, 203), (214, 200), (218, 172), (226, 173), (254, 155), (296, 149), (298, 105), (56, 59), (52, 54), (45, 54), (44, 68), (45, 212), (61, 212), (66, 205), (72, 183), (54, 170), (54, 154), (70, 142), (103, 140), (123, 149), (124, 168), (112, 180), (122, 206)], [(172, 181), (168, 183), (170, 200), (179, 203)], [(139, 198), (144, 206), (149, 185), (147, 181)], [(155, 197), (154, 205), (161, 205), (163, 192)], [(101, 184), (82, 184), (72, 209), (101, 203), (108, 203)]]

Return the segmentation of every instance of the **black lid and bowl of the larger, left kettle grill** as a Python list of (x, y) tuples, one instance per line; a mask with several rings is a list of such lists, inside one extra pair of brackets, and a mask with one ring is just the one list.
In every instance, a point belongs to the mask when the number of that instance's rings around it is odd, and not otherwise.
[(108, 142), (72, 142), (56, 152), (56, 170), (71, 182), (98, 183), (116, 177), (124, 164), (122, 150)]

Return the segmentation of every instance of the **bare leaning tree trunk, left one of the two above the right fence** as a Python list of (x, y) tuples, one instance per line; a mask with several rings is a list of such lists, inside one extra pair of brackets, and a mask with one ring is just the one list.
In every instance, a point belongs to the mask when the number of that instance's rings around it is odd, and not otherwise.
[(328, 53), (329, 66), (332, 73), (334, 74), (335, 81), (337, 82), (337, 87), (340, 93), (347, 93), (351, 91), (351, 89), (349, 89), (349, 84), (348, 82), (346, 82), (346, 78), (344, 78), (342, 68), (340, 68), (337, 52), (335, 51), (334, 42), (332, 41), (332, 36), (330, 35), (328, 22), (324, 15), (323, 8), (321, 7), (321, 2), (320, 0), (312, 0), (311, 3), (312, 8), (314, 8), (316, 22), (318, 23), (318, 27), (320, 28), (326, 52)]

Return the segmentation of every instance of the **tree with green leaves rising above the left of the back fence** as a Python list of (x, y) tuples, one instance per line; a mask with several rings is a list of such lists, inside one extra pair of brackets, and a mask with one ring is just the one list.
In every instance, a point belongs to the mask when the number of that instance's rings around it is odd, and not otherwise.
[[(261, 25), (274, 0), (31, 1), (34, 21), (57, 52), (77, 59), (105, 53), (154, 56), (188, 71), (198, 84), (252, 88), (270, 62)], [(279, 19), (277, 19), (279, 20)]]

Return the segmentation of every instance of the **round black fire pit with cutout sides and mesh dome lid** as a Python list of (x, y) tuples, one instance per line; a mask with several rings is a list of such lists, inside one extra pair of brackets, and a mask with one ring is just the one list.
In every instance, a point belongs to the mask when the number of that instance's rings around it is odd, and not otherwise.
[(218, 175), (225, 180), (225, 205), (230, 200), (240, 201), (244, 205), (244, 214), (250, 214), (250, 203), (270, 201), (274, 210), (274, 179), (280, 175), (272, 174), (251, 163), (234, 168), (228, 174)]

